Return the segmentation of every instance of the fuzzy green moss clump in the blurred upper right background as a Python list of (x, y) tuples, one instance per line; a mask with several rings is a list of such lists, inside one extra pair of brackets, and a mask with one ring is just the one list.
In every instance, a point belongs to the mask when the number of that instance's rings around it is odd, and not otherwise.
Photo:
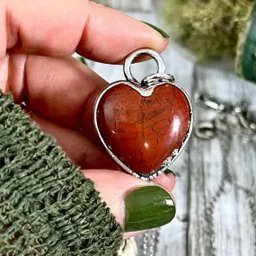
[(165, 0), (171, 35), (200, 60), (236, 55), (255, 0)]

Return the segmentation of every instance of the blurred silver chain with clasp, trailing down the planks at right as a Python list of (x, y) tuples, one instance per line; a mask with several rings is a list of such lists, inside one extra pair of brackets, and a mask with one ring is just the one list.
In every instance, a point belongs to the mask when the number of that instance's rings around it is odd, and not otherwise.
[[(256, 122), (253, 120), (252, 112), (249, 111), (247, 102), (237, 102), (236, 104), (229, 104), (218, 102), (216, 99), (209, 97), (207, 94), (196, 94), (195, 102), (203, 108), (215, 110), (217, 115), (215, 119), (203, 121), (195, 126), (195, 135), (199, 138), (211, 139), (220, 137), (222, 154), (228, 154), (230, 147), (228, 141), (235, 133), (242, 136), (243, 142), (256, 143)], [(228, 163), (224, 157), (224, 170), (221, 184), (216, 194), (210, 199), (206, 206), (206, 221), (207, 221), (207, 235), (210, 237), (207, 243), (207, 250), (209, 256), (216, 256), (216, 240), (214, 233), (214, 218), (213, 212), (216, 206), (216, 201), (225, 191), (225, 184), (230, 184), (235, 190), (242, 190), (247, 198), (252, 216), (252, 223), (254, 224), (254, 231), (256, 232), (256, 205), (255, 192), (239, 185), (238, 181), (231, 175), (228, 170)], [(256, 233), (255, 233), (256, 234)], [(256, 255), (256, 243), (254, 244), (254, 253)]]

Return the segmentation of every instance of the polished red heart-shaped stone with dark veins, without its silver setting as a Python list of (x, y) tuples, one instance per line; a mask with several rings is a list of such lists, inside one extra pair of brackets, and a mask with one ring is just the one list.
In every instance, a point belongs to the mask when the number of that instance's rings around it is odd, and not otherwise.
[(120, 84), (103, 94), (98, 127), (113, 154), (134, 172), (158, 170), (181, 146), (190, 122), (190, 104), (177, 87), (163, 84), (143, 97)]

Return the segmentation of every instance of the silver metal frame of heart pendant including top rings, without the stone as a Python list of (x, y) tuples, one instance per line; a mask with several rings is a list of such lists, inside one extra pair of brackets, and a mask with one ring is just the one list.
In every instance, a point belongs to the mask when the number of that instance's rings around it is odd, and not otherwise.
[[(158, 73), (154, 74), (154, 75), (148, 75), (146, 76), (146, 78), (144, 78), (142, 80), (141, 83), (137, 82), (137, 80), (133, 77), (133, 75), (131, 75), (130, 72), (130, 65), (132, 63), (132, 60), (142, 54), (146, 54), (149, 55), (151, 57), (154, 58), (154, 60), (157, 62), (158, 65)], [(119, 166), (122, 167), (122, 169), (124, 169), (125, 171), (127, 171), (128, 173), (134, 175), (137, 178), (140, 178), (142, 180), (145, 181), (150, 181), (153, 180), (154, 178), (156, 178), (159, 174), (163, 173), (164, 171), (166, 171), (167, 169), (170, 168), (170, 165), (176, 160), (176, 158), (179, 156), (179, 154), (181, 154), (182, 149), (184, 148), (184, 146), (187, 144), (187, 142), (190, 139), (190, 135), (191, 135), (191, 131), (192, 131), (192, 127), (193, 127), (193, 112), (192, 112), (192, 106), (191, 106), (191, 102), (190, 102), (190, 98), (188, 97), (187, 93), (185, 93), (185, 91), (178, 85), (173, 84), (174, 82), (174, 77), (172, 75), (166, 74), (164, 73), (165, 71), (165, 65), (163, 62), (163, 58), (156, 53), (154, 50), (152, 49), (138, 49), (137, 51), (131, 53), (128, 58), (126, 59), (125, 65), (124, 65), (124, 74), (127, 78), (127, 81), (117, 81), (113, 84), (110, 84), (98, 97), (98, 99), (95, 102), (94, 105), (94, 111), (93, 111), (93, 122), (94, 122), (94, 127), (97, 131), (97, 134), (102, 142), (102, 145), (105, 147), (105, 149), (107, 150), (107, 152), (110, 154), (110, 156), (112, 157), (112, 159), (119, 164)], [(98, 126), (98, 106), (99, 103), (101, 102), (102, 96), (104, 95), (104, 93), (108, 92), (111, 88), (115, 87), (115, 86), (119, 86), (120, 84), (125, 84), (128, 85), (129, 87), (133, 88), (134, 90), (136, 90), (138, 93), (140, 93), (140, 95), (142, 95), (143, 97), (148, 97), (150, 95), (152, 95), (152, 93), (154, 93), (154, 88), (157, 86), (161, 86), (163, 84), (170, 84), (170, 86), (175, 86), (177, 89), (179, 89), (181, 91), (181, 93), (183, 93), (187, 99), (187, 101), (189, 102), (189, 106), (190, 106), (190, 122), (188, 125), (188, 129), (187, 129), (187, 134), (184, 137), (181, 146), (179, 148), (176, 148), (172, 151), (172, 154), (163, 161), (163, 163), (161, 164), (161, 167), (159, 170), (154, 170), (152, 172), (149, 173), (138, 173), (138, 172), (134, 172), (133, 170), (131, 170), (128, 165), (126, 165), (125, 163), (123, 163), (119, 157), (115, 154), (113, 154), (113, 152), (111, 151), (111, 146), (107, 145), (104, 141), (104, 138), (102, 137), (101, 131), (99, 129)]]

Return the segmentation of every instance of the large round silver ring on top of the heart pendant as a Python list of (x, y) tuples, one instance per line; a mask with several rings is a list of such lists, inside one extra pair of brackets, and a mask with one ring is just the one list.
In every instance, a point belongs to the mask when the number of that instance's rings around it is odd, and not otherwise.
[(131, 74), (131, 64), (133, 60), (140, 56), (140, 55), (148, 55), (156, 61), (157, 64), (157, 73), (165, 73), (165, 64), (163, 61), (163, 57), (159, 55), (156, 51), (153, 49), (137, 49), (136, 51), (132, 52), (128, 57), (126, 58), (125, 64), (124, 64), (124, 74), (127, 78), (128, 81), (133, 82), (133, 83), (138, 83), (137, 79), (134, 78), (134, 76)]

